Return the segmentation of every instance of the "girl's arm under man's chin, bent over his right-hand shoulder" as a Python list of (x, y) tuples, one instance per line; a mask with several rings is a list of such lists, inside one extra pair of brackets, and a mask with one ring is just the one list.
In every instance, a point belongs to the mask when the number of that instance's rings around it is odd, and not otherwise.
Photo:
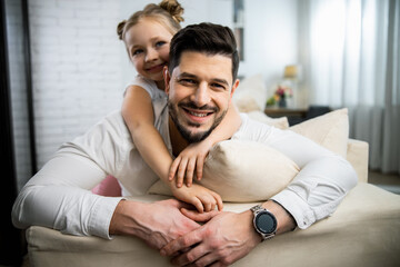
[(183, 178), (186, 178), (186, 185), (190, 187), (196, 170), (197, 179), (200, 180), (202, 178), (204, 160), (211, 147), (219, 141), (231, 138), (240, 125), (241, 119), (239, 111), (231, 101), (226, 117), (210, 136), (201, 142), (190, 145), (173, 160), (168, 179), (172, 180), (178, 172), (177, 187), (182, 186)]

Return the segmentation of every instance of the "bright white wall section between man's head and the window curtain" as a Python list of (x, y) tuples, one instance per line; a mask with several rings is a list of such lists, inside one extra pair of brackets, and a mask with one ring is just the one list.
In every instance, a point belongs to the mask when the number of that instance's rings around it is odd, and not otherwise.
[(239, 75), (261, 73), (271, 90), (284, 66), (298, 63), (297, 1), (244, 0), (244, 12), (246, 59)]

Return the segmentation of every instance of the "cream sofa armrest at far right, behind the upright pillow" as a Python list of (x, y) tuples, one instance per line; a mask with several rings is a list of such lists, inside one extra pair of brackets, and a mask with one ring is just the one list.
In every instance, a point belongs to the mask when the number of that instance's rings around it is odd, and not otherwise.
[(347, 160), (356, 169), (359, 182), (368, 182), (368, 149), (369, 145), (366, 141), (348, 141)]

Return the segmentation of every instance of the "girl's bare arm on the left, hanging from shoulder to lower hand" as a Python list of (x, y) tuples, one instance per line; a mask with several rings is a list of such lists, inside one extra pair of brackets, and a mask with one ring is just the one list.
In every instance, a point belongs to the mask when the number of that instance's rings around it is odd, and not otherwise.
[(151, 98), (143, 88), (131, 86), (127, 89), (122, 103), (122, 117), (140, 155), (156, 175), (171, 188), (173, 196), (192, 204), (200, 212), (213, 210), (216, 206), (222, 209), (222, 199), (218, 194), (199, 185), (192, 188), (176, 188), (168, 180), (172, 157), (153, 126), (154, 113)]

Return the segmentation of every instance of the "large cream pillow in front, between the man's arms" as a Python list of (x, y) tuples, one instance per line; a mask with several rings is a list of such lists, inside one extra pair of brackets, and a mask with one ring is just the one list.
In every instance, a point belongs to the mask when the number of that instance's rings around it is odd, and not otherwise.
[[(210, 150), (198, 184), (218, 192), (223, 201), (260, 201), (286, 188), (298, 172), (290, 158), (269, 146), (228, 140)], [(157, 181), (149, 194), (171, 196), (162, 181)]]

